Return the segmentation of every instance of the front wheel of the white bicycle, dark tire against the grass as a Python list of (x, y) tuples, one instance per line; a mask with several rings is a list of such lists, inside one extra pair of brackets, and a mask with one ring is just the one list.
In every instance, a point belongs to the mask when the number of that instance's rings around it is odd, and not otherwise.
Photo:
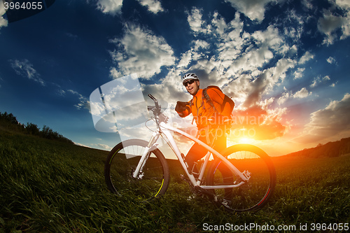
[(104, 167), (107, 187), (117, 195), (145, 201), (164, 194), (169, 185), (169, 168), (164, 155), (155, 148), (148, 153), (144, 169), (134, 178), (147, 141), (130, 139), (115, 146)]

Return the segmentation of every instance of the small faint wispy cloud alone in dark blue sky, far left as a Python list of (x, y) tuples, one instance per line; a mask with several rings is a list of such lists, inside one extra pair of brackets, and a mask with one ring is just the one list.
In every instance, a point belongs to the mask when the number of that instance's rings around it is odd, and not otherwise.
[(31, 64), (27, 59), (23, 60), (10, 60), (10, 65), (15, 70), (15, 72), (19, 76), (26, 77), (30, 80), (34, 80), (37, 83), (40, 83), (41, 85), (45, 86), (44, 80), (42, 80), (40, 77), (40, 74), (36, 72), (36, 70), (33, 68), (33, 64)]

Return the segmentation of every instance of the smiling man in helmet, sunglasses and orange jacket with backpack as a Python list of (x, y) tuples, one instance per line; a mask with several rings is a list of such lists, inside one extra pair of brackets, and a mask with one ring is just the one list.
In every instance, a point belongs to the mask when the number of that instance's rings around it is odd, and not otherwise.
[[(235, 103), (218, 87), (207, 88), (207, 96), (212, 103), (204, 98), (204, 90), (200, 88), (200, 79), (195, 73), (186, 73), (183, 76), (183, 85), (186, 87), (188, 93), (192, 94), (193, 99), (188, 102), (178, 101), (175, 111), (185, 118), (193, 114), (193, 119), (197, 124), (198, 135), (200, 141), (212, 146), (214, 150), (220, 152), (226, 148), (226, 134), (225, 126), (223, 125), (223, 116), (230, 115)], [(195, 162), (200, 160), (207, 154), (207, 150), (195, 143), (186, 155), (186, 163), (195, 175), (198, 169)]]

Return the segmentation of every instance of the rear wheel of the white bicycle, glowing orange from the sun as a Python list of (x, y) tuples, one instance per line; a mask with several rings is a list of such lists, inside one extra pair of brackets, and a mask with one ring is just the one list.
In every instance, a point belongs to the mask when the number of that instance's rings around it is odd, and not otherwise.
[[(251, 178), (238, 188), (210, 190), (212, 195), (209, 197), (218, 206), (223, 206), (230, 212), (253, 211), (265, 206), (276, 186), (276, 171), (269, 155), (260, 148), (248, 144), (230, 146), (223, 150), (222, 155), (239, 171), (249, 171)], [(214, 160), (209, 167), (207, 185), (240, 182), (240, 178), (234, 176), (221, 160)]]

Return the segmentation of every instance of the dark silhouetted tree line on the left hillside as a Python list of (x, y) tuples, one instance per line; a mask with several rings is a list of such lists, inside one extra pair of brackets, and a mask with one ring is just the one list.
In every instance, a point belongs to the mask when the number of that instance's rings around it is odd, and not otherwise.
[(22, 132), (25, 134), (40, 136), (45, 139), (63, 141), (73, 144), (73, 141), (65, 138), (57, 132), (54, 132), (52, 129), (50, 129), (50, 127), (46, 125), (43, 126), (43, 129), (39, 129), (38, 125), (34, 125), (33, 123), (27, 122), (27, 125), (21, 124), (12, 113), (0, 112), (0, 126), (15, 132)]

